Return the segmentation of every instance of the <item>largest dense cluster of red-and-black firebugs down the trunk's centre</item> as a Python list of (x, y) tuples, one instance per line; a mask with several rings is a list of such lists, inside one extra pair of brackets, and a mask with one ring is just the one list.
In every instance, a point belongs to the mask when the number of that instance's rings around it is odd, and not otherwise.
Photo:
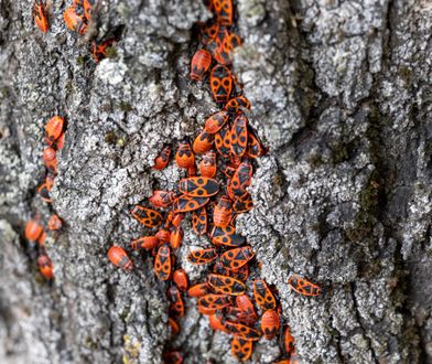
[[(154, 233), (132, 240), (130, 246), (133, 250), (149, 251), (154, 257), (155, 276), (169, 282), (169, 324), (173, 335), (181, 330), (187, 293), (197, 299), (198, 311), (208, 315), (214, 330), (233, 336), (231, 353), (239, 361), (251, 357), (253, 342), (262, 335), (271, 340), (280, 334), (285, 358), (279, 363), (296, 363), (290, 328), (281, 324), (277, 291), (259, 277), (259, 264), (251, 247), (236, 232), (237, 216), (253, 207), (248, 186), (253, 160), (264, 154), (266, 149), (245, 115), (250, 103), (230, 69), (233, 50), (241, 44), (231, 30), (233, 1), (205, 3), (214, 18), (197, 24), (201, 49), (192, 57), (190, 77), (199, 82), (209, 73), (210, 92), (219, 111), (205, 120), (192, 144), (187, 139), (180, 142), (175, 163), (187, 176), (179, 181), (177, 191), (153, 191), (147, 206), (131, 210), (131, 215), (145, 227), (154, 228)], [(163, 148), (153, 169), (164, 169), (172, 153), (170, 146)], [(208, 266), (206, 279), (192, 287), (186, 271), (176, 261), (184, 235), (182, 221), (187, 214), (194, 233), (210, 240), (208, 247), (187, 256), (193, 265)], [(111, 246), (108, 257), (127, 271), (133, 268), (119, 246)], [(304, 296), (321, 292), (317, 286), (296, 276), (290, 278), (289, 285)], [(183, 356), (180, 351), (168, 351), (164, 361), (179, 364)]]

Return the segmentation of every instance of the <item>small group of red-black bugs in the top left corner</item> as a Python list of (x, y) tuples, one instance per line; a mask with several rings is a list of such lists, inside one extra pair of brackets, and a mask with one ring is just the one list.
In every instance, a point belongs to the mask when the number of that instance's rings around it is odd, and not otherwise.
[[(63, 12), (66, 26), (78, 35), (87, 33), (89, 24), (95, 22), (97, 0), (74, 0), (73, 4)], [(50, 29), (48, 6), (44, 0), (36, 0), (33, 7), (33, 18), (37, 28), (46, 33)], [(100, 62), (107, 56), (107, 49), (119, 41), (120, 35), (116, 31), (102, 40), (91, 42), (91, 56), (95, 62)]]

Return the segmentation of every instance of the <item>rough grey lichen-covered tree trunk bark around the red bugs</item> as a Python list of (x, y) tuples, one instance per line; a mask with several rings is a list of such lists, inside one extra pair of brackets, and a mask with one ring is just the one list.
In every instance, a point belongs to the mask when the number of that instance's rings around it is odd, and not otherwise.
[[(31, 7), (0, 4), (0, 361), (160, 363), (168, 303), (151, 260), (133, 255), (138, 269), (126, 275), (106, 253), (144, 233), (129, 207), (179, 180), (175, 168), (151, 171), (156, 151), (216, 109), (206, 84), (187, 77), (191, 29), (208, 13), (194, 0), (102, 1), (104, 24), (126, 31), (95, 65), (63, 23), (64, 2), (53, 2), (46, 35)], [(432, 7), (238, 0), (237, 10), (235, 72), (270, 148), (238, 229), (279, 289), (301, 360), (431, 362)], [(35, 190), (43, 126), (57, 113), (68, 126), (52, 196), (66, 228), (46, 244), (48, 285), (23, 224), (48, 217)], [(183, 259), (208, 244), (191, 233), (184, 242)], [(293, 272), (325, 295), (291, 292)], [(186, 363), (235, 362), (228, 336), (191, 302), (182, 326), (174, 346)], [(278, 356), (277, 341), (262, 340), (252, 362)]]

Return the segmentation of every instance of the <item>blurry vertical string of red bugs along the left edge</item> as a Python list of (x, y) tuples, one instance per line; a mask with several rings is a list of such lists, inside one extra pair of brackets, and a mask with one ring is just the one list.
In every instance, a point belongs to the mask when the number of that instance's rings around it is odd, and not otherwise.
[[(65, 121), (62, 117), (54, 116), (46, 122), (44, 140), (46, 148), (43, 151), (42, 158), (46, 172), (44, 182), (37, 188), (37, 193), (41, 199), (51, 206), (52, 200), (50, 191), (54, 184), (54, 179), (57, 175), (56, 153), (63, 149), (65, 141)], [(47, 223), (47, 228), (51, 232), (60, 231), (63, 222), (58, 215), (54, 213), (52, 207), (50, 210), (52, 215)], [(53, 279), (53, 263), (47, 256), (44, 246), (47, 234), (44, 231), (44, 224), (39, 215), (25, 223), (24, 236), (30, 247), (37, 254), (37, 265), (41, 274), (46, 279)]]

